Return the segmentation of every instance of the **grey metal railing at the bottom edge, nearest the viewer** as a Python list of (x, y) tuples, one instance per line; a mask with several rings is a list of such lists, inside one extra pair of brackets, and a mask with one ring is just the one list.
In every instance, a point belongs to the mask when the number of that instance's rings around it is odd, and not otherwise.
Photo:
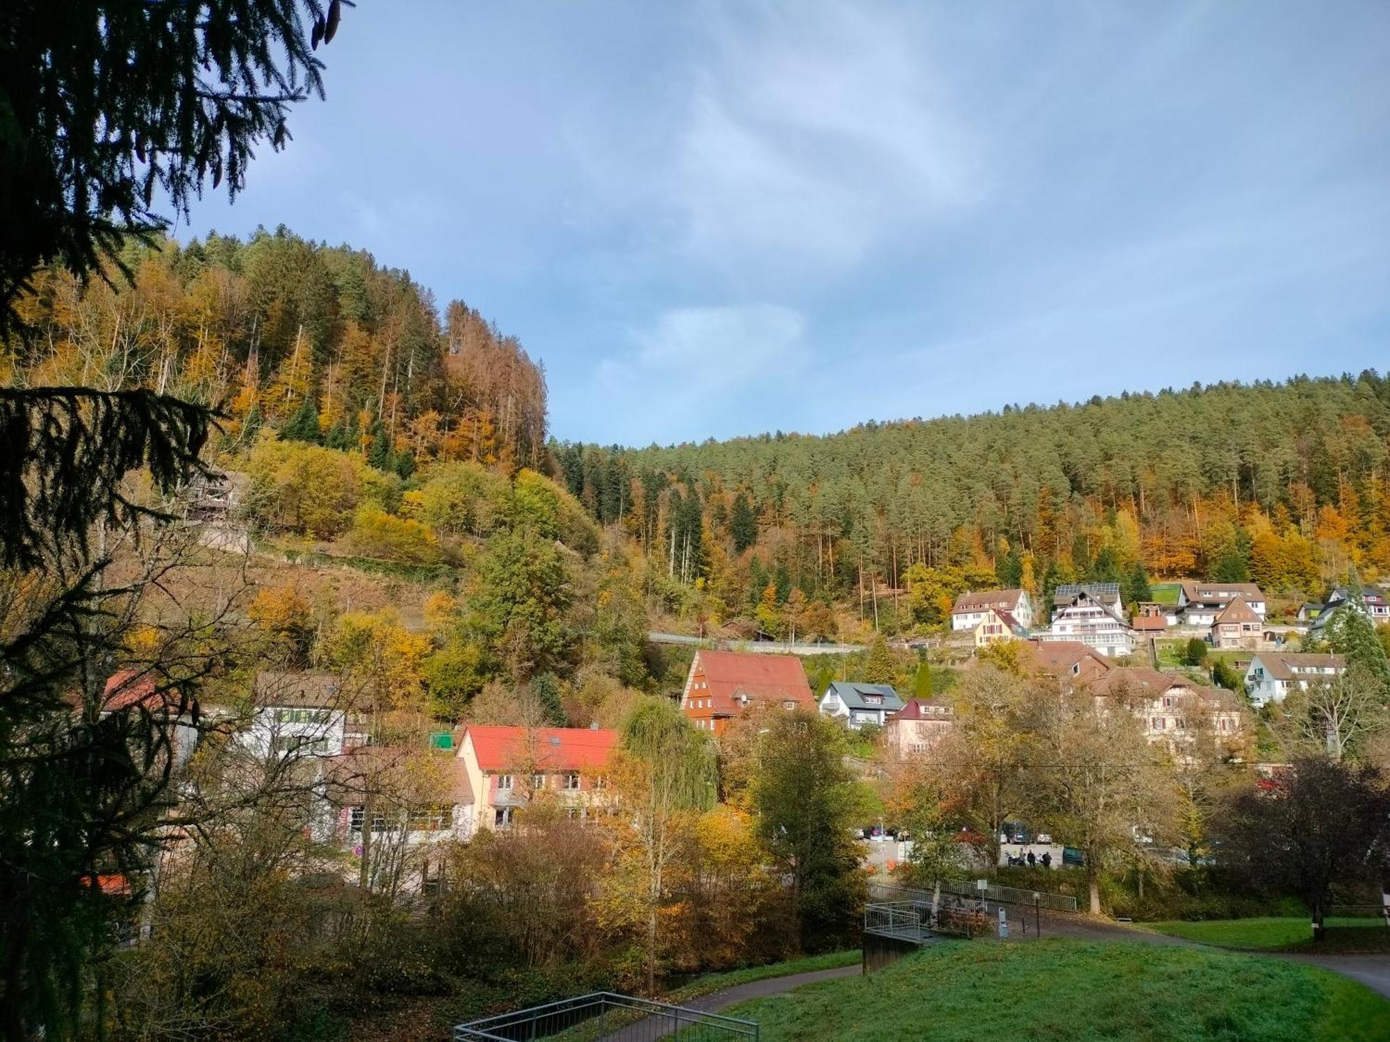
[(553, 1036), (563, 1036), (563, 1042), (599, 1038), (621, 1042), (751, 1038), (758, 1042), (758, 1024), (616, 992), (594, 992), (484, 1017), (453, 1029), (453, 1042), (530, 1042)]

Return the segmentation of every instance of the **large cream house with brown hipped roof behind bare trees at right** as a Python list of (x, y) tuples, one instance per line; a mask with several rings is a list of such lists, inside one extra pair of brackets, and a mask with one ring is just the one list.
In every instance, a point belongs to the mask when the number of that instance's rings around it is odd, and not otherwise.
[(1232, 693), (1186, 677), (1147, 665), (1116, 665), (1093, 690), (1122, 702), (1138, 717), (1150, 743), (1163, 743), (1180, 759), (1193, 754), (1204, 734), (1227, 754), (1238, 752), (1244, 739), (1244, 721)]

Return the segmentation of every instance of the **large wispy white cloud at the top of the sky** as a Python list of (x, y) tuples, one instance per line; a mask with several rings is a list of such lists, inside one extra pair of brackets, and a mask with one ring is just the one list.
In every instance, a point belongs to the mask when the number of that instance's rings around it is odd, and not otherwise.
[(912, 22), (849, 6), (716, 8), (673, 146), (681, 245), (723, 263), (848, 265), (970, 204), (980, 164)]

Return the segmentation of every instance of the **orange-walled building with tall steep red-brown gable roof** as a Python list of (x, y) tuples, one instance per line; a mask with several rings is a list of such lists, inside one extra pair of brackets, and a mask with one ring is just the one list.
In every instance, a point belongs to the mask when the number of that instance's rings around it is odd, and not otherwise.
[(816, 711), (806, 671), (794, 654), (695, 652), (681, 709), (695, 727), (723, 734), (728, 721), (755, 702), (785, 710)]

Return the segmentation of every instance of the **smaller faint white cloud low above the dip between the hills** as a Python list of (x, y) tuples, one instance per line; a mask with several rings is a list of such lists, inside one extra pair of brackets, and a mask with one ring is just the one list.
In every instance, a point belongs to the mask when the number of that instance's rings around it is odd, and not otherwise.
[(599, 363), (589, 407), (612, 417), (616, 436), (703, 436), (712, 411), (723, 421), (760, 378), (806, 361), (805, 329), (799, 313), (769, 303), (664, 311), (631, 333), (630, 352)]

